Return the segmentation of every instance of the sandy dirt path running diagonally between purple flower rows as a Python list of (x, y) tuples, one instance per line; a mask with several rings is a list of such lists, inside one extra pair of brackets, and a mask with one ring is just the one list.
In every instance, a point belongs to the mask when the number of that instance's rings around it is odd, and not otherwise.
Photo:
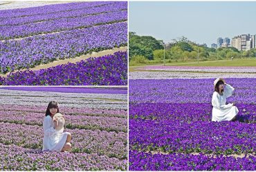
[[(66, 58), (64, 60), (59, 60), (59, 61), (53, 61), (52, 63), (48, 64), (42, 64), (38, 65), (36, 67), (30, 68), (30, 70), (39, 70), (39, 69), (47, 69), (49, 67), (55, 67), (57, 65), (64, 65), (66, 63), (77, 63), (78, 61), (83, 61), (86, 60), (87, 58), (90, 57), (99, 57), (99, 56), (105, 56), (107, 54), (113, 54), (114, 52), (119, 52), (119, 51), (127, 51), (127, 47), (115, 47), (111, 50), (104, 50), (101, 52), (93, 52), (92, 54), (85, 54), (82, 56), (77, 56), (75, 58)], [(19, 71), (25, 71), (26, 69), (20, 69)], [(17, 71), (14, 71), (17, 72)], [(0, 74), (2, 77), (6, 77), (9, 73), (7, 74)]]

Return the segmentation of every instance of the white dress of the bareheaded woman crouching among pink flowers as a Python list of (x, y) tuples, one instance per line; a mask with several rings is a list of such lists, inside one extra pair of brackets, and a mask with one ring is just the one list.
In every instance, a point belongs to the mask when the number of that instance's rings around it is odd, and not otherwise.
[(43, 140), (43, 151), (62, 151), (64, 144), (66, 143), (66, 138), (68, 132), (64, 132), (64, 129), (57, 131), (53, 129), (54, 123), (51, 116), (46, 116), (44, 118), (44, 140)]

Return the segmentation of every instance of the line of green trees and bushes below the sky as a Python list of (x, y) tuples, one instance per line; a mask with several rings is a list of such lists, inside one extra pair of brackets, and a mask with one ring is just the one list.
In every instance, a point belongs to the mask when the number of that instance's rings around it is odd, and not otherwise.
[[(129, 32), (129, 62), (136, 63), (160, 63), (164, 56), (163, 41), (156, 40), (153, 36), (138, 36), (135, 32)], [(255, 57), (256, 49), (239, 51), (235, 47), (219, 47), (216, 49), (207, 45), (194, 43), (185, 36), (174, 39), (172, 43), (165, 44), (165, 59), (172, 61), (207, 61), (209, 59), (226, 59)]]

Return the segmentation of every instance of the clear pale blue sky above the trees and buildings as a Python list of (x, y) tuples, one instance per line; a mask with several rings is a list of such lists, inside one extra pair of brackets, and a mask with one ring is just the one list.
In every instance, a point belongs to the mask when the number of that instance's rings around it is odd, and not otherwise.
[(129, 1), (129, 32), (165, 43), (187, 37), (208, 47), (217, 38), (256, 34), (256, 1)]

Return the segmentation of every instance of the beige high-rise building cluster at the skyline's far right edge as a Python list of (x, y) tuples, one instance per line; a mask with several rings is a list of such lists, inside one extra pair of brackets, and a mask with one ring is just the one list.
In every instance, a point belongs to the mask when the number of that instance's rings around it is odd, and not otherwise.
[(239, 51), (255, 48), (255, 35), (241, 34), (239, 36), (235, 36), (232, 38), (231, 45)]

